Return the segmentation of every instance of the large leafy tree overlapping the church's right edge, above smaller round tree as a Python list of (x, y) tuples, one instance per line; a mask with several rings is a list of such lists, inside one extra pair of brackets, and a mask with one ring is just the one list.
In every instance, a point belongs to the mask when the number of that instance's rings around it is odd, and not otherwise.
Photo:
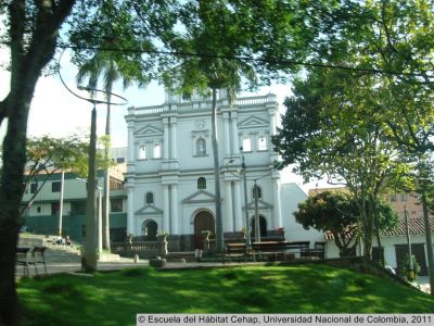
[(311, 72), (294, 84), (294, 98), (273, 145), (306, 180), (328, 176), (356, 199), (363, 252), (371, 258), (379, 195), (409, 170), (384, 127), (374, 75), (336, 70)]

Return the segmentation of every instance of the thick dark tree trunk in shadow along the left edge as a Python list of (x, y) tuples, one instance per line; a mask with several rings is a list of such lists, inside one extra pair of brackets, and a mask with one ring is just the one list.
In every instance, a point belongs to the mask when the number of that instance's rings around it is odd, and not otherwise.
[(5, 25), (1, 37), (11, 50), (10, 91), (0, 101), (0, 124), (8, 118), (0, 179), (0, 323), (5, 325), (16, 325), (20, 318), (15, 291), (15, 248), (24, 191), (30, 102), (42, 70), (54, 55), (59, 29), (74, 4), (74, 0), (0, 2)]

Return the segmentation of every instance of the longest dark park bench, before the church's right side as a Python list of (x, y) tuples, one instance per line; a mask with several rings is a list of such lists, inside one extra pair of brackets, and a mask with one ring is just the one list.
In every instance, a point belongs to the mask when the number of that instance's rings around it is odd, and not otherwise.
[(267, 256), (269, 260), (294, 259), (295, 254), (299, 258), (310, 255), (310, 241), (264, 241), (252, 243), (253, 259), (256, 256)]

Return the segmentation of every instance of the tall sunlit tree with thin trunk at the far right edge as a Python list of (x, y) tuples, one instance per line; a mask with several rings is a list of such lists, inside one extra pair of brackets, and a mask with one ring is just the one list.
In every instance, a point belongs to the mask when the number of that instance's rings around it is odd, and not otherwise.
[(397, 148), (404, 155), (413, 158), (414, 178), (409, 189), (421, 193), (432, 294), (434, 254), (427, 193), (434, 149), (433, 7), (432, 0), (368, 1), (360, 7), (357, 15), (360, 20), (356, 17), (357, 22), (345, 27), (346, 38), (363, 39), (350, 46), (350, 51), (363, 57), (363, 65), (386, 72), (376, 85), (380, 95), (376, 101)]

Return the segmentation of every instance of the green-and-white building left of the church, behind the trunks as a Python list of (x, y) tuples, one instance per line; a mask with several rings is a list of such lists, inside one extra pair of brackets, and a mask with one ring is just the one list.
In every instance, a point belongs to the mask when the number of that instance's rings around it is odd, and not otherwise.
[[(124, 189), (123, 167), (111, 168), (110, 230), (112, 241), (123, 241), (127, 227), (127, 196)], [(36, 176), (28, 185), (22, 200), (22, 225), (33, 233), (56, 235), (60, 223), (62, 173)], [(103, 172), (98, 173), (99, 193), (103, 196)], [(39, 189), (40, 188), (40, 189)], [(36, 197), (34, 196), (37, 192)], [(26, 209), (27, 208), (27, 209)], [(74, 173), (64, 174), (62, 235), (84, 242), (87, 224), (86, 180)]]

